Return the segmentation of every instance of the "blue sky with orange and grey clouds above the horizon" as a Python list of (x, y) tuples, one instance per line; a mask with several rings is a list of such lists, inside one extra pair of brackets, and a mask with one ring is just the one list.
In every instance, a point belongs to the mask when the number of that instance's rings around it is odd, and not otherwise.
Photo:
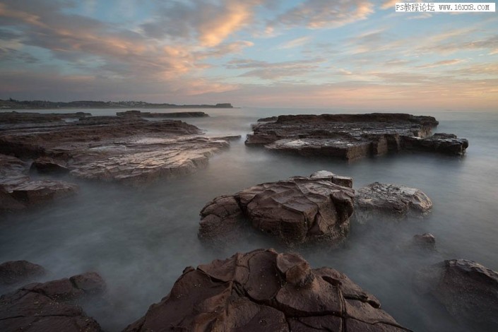
[(498, 112), (497, 13), (395, 3), (0, 0), (0, 99)]

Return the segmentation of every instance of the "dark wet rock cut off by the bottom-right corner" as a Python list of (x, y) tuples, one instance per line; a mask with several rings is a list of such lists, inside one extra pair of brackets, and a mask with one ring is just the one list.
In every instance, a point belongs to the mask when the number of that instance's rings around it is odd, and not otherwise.
[(475, 261), (451, 259), (418, 271), (415, 285), (473, 331), (498, 331), (496, 271)]

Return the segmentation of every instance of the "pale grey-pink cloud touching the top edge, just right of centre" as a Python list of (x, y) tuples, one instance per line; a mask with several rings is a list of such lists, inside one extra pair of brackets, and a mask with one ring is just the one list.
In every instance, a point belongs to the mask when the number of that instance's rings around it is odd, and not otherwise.
[(364, 20), (373, 12), (374, 5), (364, 0), (307, 0), (277, 16), (269, 26), (337, 28)]

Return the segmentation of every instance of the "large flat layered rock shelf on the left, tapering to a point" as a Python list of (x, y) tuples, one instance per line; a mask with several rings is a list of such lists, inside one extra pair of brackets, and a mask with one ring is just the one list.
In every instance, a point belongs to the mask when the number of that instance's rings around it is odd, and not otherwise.
[(178, 120), (85, 116), (40, 124), (38, 118), (23, 116), (22, 128), (0, 127), (0, 153), (35, 159), (37, 170), (132, 185), (194, 172), (239, 138), (199, 136), (200, 129)]

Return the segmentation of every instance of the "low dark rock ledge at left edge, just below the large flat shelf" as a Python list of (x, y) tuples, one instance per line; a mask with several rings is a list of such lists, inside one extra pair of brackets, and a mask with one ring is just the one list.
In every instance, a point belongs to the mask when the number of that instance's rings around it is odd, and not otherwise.
[(71, 196), (78, 191), (76, 184), (28, 176), (27, 163), (10, 155), (0, 154), (0, 212), (18, 211)]

